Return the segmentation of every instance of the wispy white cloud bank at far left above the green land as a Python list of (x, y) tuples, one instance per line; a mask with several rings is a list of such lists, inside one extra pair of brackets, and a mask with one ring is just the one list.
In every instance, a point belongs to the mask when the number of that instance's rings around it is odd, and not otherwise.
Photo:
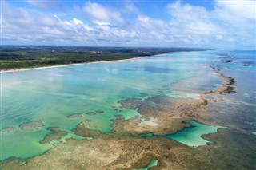
[[(78, 18), (62, 20), (58, 15), (43, 14), (2, 3), (2, 42), (17, 44), (82, 43), (94, 28)], [(15, 11), (15, 13), (11, 13)], [(81, 35), (87, 35), (83, 37)], [(71, 38), (71, 39), (70, 39)]]

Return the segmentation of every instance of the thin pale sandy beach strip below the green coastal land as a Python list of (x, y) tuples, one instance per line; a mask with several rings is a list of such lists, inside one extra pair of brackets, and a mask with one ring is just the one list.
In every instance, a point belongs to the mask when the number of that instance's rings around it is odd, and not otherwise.
[(135, 60), (140, 57), (133, 57), (128, 59), (119, 59), (119, 60), (110, 60), (110, 61), (91, 61), (91, 62), (82, 62), (82, 63), (73, 63), (73, 64), (66, 64), (66, 65), (49, 65), (49, 66), (40, 66), (35, 68), (26, 68), (26, 69), (6, 69), (6, 70), (0, 70), (0, 73), (15, 73), (15, 72), (21, 72), (21, 71), (30, 71), (30, 70), (37, 70), (37, 69), (51, 69), (51, 68), (58, 68), (58, 67), (66, 67), (66, 66), (74, 66), (74, 65), (86, 65), (86, 64), (95, 64), (95, 63), (107, 63), (107, 62), (120, 62), (120, 61), (131, 61)]

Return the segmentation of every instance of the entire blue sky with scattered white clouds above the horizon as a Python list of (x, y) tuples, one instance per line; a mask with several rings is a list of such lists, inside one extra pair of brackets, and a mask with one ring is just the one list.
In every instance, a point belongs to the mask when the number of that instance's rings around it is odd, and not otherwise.
[(255, 0), (0, 0), (1, 45), (255, 49)]

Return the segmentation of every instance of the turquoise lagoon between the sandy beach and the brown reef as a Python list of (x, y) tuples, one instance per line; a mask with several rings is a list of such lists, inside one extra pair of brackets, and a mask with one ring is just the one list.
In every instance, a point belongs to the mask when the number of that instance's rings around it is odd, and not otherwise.
[[(69, 132), (62, 139), (65, 141), (68, 137), (81, 138), (72, 132), (81, 121), (90, 120), (88, 128), (112, 132), (114, 116), (122, 114), (126, 119), (140, 116), (136, 110), (119, 109), (120, 100), (144, 97), (141, 93), (147, 93), (146, 97), (194, 97), (194, 92), (212, 89), (221, 81), (205, 65), (213, 63), (215, 54), (212, 51), (166, 53), (130, 61), (1, 73), (1, 129), (17, 130), (1, 134), (0, 160), (10, 156), (27, 158), (54, 147), (55, 144), (39, 144), (50, 133), (49, 127)], [(245, 93), (251, 95), (250, 90)], [(86, 114), (96, 110), (104, 113)], [(80, 119), (66, 118), (73, 113), (85, 114)], [(29, 121), (42, 121), (45, 126), (22, 131), (19, 125)]]

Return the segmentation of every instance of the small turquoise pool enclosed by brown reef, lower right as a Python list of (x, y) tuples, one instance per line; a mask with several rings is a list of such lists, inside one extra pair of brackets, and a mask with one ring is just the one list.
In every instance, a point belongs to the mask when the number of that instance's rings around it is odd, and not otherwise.
[(178, 141), (182, 144), (186, 144), (188, 146), (203, 146), (209, 143), (210, 141), (204, 140), (202, 135), (207, 135), (210, 133), (218, 132), (218, 128), (226, 128), (223, 126), (209, 126), (203, 125), (196, 121), (189, 122), (191, 127), (184, 128), (182, 131), (178, 131), (174, 134), (165, 135), (165, 136), (156, 136), (152, 133), (141, 134), (141, 137), (166, 137), (167, 139)]

